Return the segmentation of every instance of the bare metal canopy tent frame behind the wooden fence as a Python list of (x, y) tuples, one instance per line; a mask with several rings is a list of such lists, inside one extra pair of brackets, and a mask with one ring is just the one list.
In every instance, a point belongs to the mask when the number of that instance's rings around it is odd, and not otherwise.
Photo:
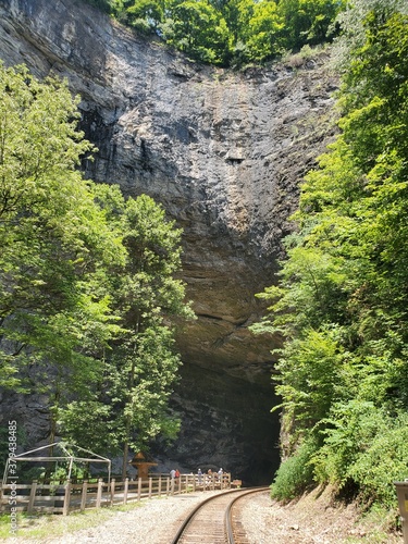
[[(34, 456), (34, 457), (27, 457), (29, 454), (34, 454), (36, 452), (40, 452), (42, 449), (48, 449), (50, 447), (58, 446), (62, 449), (62, 452), (65, 455), (62, 456)], [(79, 449), (81, 452), (84, 452), (85, 454), (90, 454), (94, 457), (77, 457), (73, 454), (71, 454), (66, 448), (76, 448)], [(5, 461), (5, 468), (4, 468), (4, 474), (3, 474), (3, 485), (7, 484), (8, 479), (16, 479), (16, 477), (9, 477), (9, 469), (10, 465), (14, 465), (15, 461), (34, 461), (34, 462), (44, 462), (44, 461), (70, 461), (69, 465), (69, 473), (67, 473), (67, 479), (71, 480), (71, 473), (72, 473), (72, 468), (75, 461), (81, 461), (81, 462), (103, 462), (108, 465), (108, 483), (111, 481), (111, 460), (107, 459), (106, 457), (102, 457), (101, 455), (95, 454), (94, 452), (90, 452), (89, 449), (84, 449), (81, 446), (76, 446), (75, 444), (66, 444), (65, 442), (53, 442), (52, 444), (48, 444), (47, 446), (41, 446), (37, 447), (36, 449), (30, 449), (29, 452), (24, 452), (23, 454), (18, 454), (14, 457), (9, 457), (8, 460)]]

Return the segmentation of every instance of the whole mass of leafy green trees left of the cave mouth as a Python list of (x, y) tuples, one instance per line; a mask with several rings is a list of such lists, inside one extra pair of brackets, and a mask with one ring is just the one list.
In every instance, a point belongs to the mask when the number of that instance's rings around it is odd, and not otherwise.
[(92, 146), (57, 78), (0, 64), (0, 385), (50, 398), (49, 441), (119, 452), (172, 436), (181, 231), (151, 198), (83, 180)]

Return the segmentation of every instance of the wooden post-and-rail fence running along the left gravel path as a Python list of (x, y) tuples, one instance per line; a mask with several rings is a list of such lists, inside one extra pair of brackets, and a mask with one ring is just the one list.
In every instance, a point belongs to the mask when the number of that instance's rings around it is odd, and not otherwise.
[[(240, 482), (239, 482), (240, 483)], [(125, 505), (129, 502), (160, 496), (176, 495), (194, 491), (228, 489), (234, 485), (231, 474), (221, 479), (217, 474), (181, 474), (171, 479), (166, 474), (154, 474), (148, 479), (125, 481), (111, 480), (97, 482), (84, 480), (64, 484), (42, 484), (34, 480), (30, 484), (0, 484), (0, 511), (26, 511), (44, 514), (62, 514), (67, 516), (73, 511), (86, 508), (101, 508), (113, 505)]]

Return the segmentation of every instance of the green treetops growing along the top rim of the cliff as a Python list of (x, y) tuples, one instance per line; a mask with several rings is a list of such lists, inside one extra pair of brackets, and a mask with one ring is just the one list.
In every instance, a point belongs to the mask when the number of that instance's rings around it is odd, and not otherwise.
[(137, 32), (222, 66), (263, 63), (333, 38), (346, 0), (87, 0)]

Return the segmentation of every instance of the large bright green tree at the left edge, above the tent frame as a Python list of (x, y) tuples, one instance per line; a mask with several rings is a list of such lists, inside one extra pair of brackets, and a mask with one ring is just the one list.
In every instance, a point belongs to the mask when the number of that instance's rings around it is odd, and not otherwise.
[(52, 438), (61, 397), (86, 392), (119, 329), (104, 271), (125, 251), (77, 171), (92, 146), (66, 83), (1, 65), (0, 96), (1, 385), (51, 395)]

